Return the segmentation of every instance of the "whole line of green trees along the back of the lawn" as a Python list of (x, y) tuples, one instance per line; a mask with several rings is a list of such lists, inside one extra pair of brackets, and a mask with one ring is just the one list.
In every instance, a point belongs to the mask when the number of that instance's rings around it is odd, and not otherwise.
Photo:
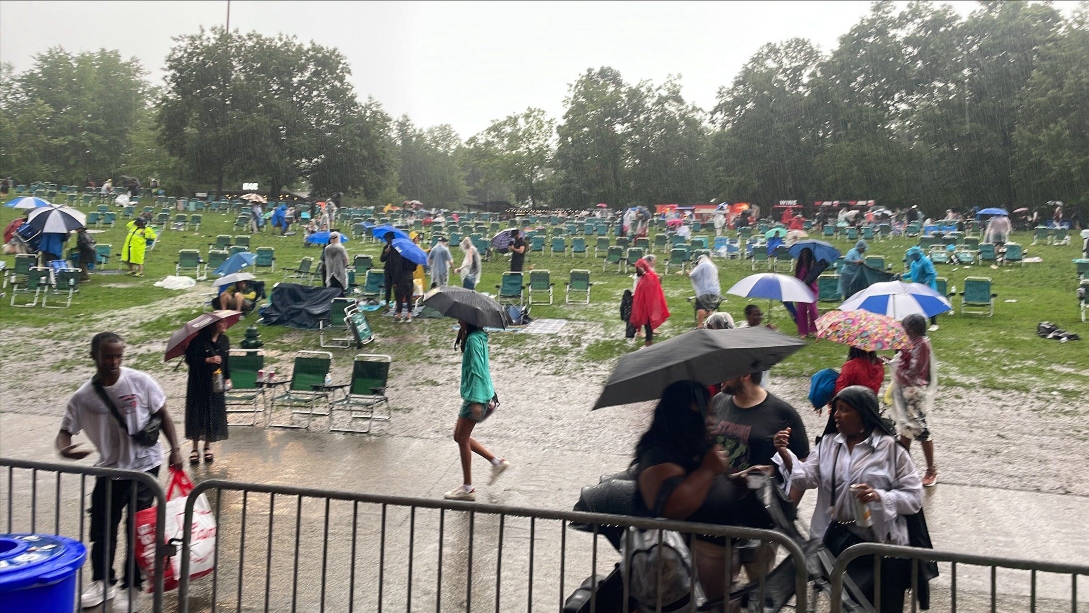
[[(285, 35), (182, 36), (152, 86), (117, 51), (53, 48), (0, 66), (0, 174), (82, 184), (155, 176), (172, 193), (344, 192), (381, 204), (876, 199), (928, 211), (1089, 201), (1089, 4), (876, 2), (830, 53), (761, 47), (715, 105), (680, 76), (609, 66), (462, 138), (360, 100), (334, 48)], [(683, 68), (683, 66), (678, 66)]]

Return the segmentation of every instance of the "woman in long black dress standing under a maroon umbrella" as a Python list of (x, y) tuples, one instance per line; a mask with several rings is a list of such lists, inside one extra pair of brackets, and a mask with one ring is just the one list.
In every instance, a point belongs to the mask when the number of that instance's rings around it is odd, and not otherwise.
[(227, 404), (223, 392), (212, 392), (212, 376), (217, 369), (223, 375), (225, 388), (231, 384), (228, 354), (227, 322), (219, 321), (197, 334), (185, 350), (185, 363), (189, 365), (189, 379), (185, 385), (185, 438), (193, 441), (189, 464), (200, 462), (198, 446), (205, 442), (205, 462), (216, 459), (211, 443), (227, 439)]

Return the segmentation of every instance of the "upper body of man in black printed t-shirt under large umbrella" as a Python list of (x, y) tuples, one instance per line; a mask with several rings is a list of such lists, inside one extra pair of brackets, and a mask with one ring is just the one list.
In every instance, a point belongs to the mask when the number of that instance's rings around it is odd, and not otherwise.
[(771, 465), (775, 455), (775, 433), (790, 429), (787, 445), (794, 455), (809, 455), (809, 440), (802, 417), (793, 406), (760, 387), (761, 372), (745, 375), (722, 384), (722, 393), (711, 406), (714, 426), (711, 438), (722, 445), (730, 471)]

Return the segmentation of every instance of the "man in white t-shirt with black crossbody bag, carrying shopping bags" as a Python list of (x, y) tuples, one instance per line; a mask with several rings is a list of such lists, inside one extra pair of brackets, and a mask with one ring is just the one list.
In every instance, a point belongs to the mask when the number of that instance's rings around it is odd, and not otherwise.
[[(181, 469), (178, 432), (167, 413), (167, 396), (155, 379), (121, 366), (124, 348), (121, 336), (113, 332), (101, 332), (91, 340), (90, 357), (95, 360), (96, 372), (90, 381), (85, 382), (69, 399), (60, 433), (57, 434), (57, 450), (70, 459), (82, 459), (90, 455), (90, 450), (72, 444), (72, 437), (84, 432), (99, 454), (95, 466), (158, 475), (162, 464), (159, 443), (143, 445), (132, 438), (133, 433), (147, 426), (148, 419), (155, 414), (162, 420), (162, 432), (170, 443), (170, 465)], [(109, 403), (103, 400), (103, 393)], [(110, 404), (117, 409), (117, 415)], [(124, 421), (124, 429), (121, 421)], [(83, 593), (84, 608), (97, 606), (114, 597), (113, 585), (118, 583), (118, 577), (113, 571), (113, 555), (118, 548), (118, 525), (121, 523), (122, 510), (132, 504), (134, 488), (136, 508), (129, 508), (124, 528), (126, 535), (133, 534), (136, 512), (155, 503), (154, 492), (139, 481), (101, 477), (95, 479), (95, 490), (90, 494), (89, 532), (93, 583)], [(130, 543), (133, 541), (129, 538), (125, 540)], [(125, 551), (124, 576), (121, 581), (127, 602), (119, 605), (119, 610), (137, 611), (142, 583), (130, 544)]]

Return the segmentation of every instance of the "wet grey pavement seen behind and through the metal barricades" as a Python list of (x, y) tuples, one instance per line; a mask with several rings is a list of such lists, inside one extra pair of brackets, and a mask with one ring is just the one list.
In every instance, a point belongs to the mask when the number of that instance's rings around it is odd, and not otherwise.
[[(645, 412), (635, 407), (607, 409), (583, 419), (597, 420), (599, 429), (611, 431), (609, 438), (622, 450), (634, 444), (641, 427), (637, 416)], [(376, 425), (376, 430), (392, 430), (397, 419), (394, 415), (394, 424)], [(576, 445), (570, 443), (550, 444), (547, 432), (541, 432), (542, 444), (527, 445), (505, 433), (504, 422), (518, 419), (518, 414), (498, 414), (480, 427), (480, 440), (509, 457), (514, 466), (494, 486), (478, 486), (479, 502), (570, 510), (579, 487), (596, 482), (599, 475), (623, 469), (629, 461), (627, 453), (591, 453), (573, 449)], [(315, 431), (232, 428), (230, 440), (217, 450), (216, 462), (192, 473), (198, 481), (215, 478), (427, 499), (438, 499), (460, 482), (461, 469), (449, 436), (429, 431), (416, 437), (337, 434), (321, 431), (325, 427), (323, 420), (316, 419), (311, 426)], [(9, 457), (51, 459), (56, 428), (52, 416), (0, 415), (0, 449)], [(478, 461), (475, 467), (479, 475), (476, 481), (482, 483), (484, 463)], [(11, 486), (16, 501), (29, 499), (28, 482), (27, 475), (16, 473)], [(75, 483), (74, 478), (64, 480), (59, 516), (62, 530), (78, 530), (81, 504)], [(7, 478), (0, 485), (7, 489)], [(37, 528), (42, 529), (44, 524), (48, 529), (54, 522), (51, 477), (39, 483), (36, 495)], [(812, 496), (803, 502), (803, 524), (808, 523), (811, 502)], [(1055, 562), (1089, 560), (1086, 496), (940, 483), (927, 491), (926, 512), (939, 549)], [(273, 611), (347, 611), (350, 592), (359, 611), (379, 610), (379, 601), (389, 610), (460, 611), (466, 608), (469, 588), (472, 610), (555, 611), (561, 597), (561, 568), (565, 593), (592, 568), (590, 537), (571, 529), (564, 531), (558, 522), (538, 519), (530, 526), (528, 519), (504, 517), (501, 529), (500, 518), (494, 515), (476, 514), (472, 520), (458, 512), (441, 515), (440, 538), (440, 513), (435, 510), (389, 505), (383, 530), (380, 505), (333, 501), (327, 508), (322, 500), (278, 495), (270, 501), (268, 494), (243, 499), (240, 493), (227, 492), (220, 507), (220, 573), (215, 584), (209, 578), (194, 584), (191, 610), (210, 611), (212, 600), (217, 608), (233, 610), (241, 586), (243, 611), (264, 610), (266, 602)], [(25, 506), (21, 508), (16, 503), (12, 518), (16, 531), (28, 529)], [(353, 534), (354, 565), (348, 563), (353, 559)], [(500, 550), (502, 569), (497, 573)], [(597, 552), (599, 571), (607, 571), (614, 561), (613, 552), (602, 541)], [(472, 587), (467, 585), (469, 576)], [(1079, 600), (1089, 592), (1086, 580), (1079, 586)], [(972, 601), (989, 606), (988, 569), (960, 566), (956, 581), (958, 610), (975, 610)], [(938, 599), (934, 610), (943, 610), (939, 603), (944, 602), (942, 598), (947, 597), (951, 585), (947, 565), (932, 585)], [(1000, 571), (996, 588), (1000, 603), (1018, 605), (1029, 593), (1028, 573)], [(1040, 575), (1037, 589), (1039, 611), (1069, 610), (1068, 600), (1065, 606), (1055, 600), (1069, 598), (1069, 577)], [(173, 596), (168, 596), (167, 602), (169, 609), (176, 604)]]

